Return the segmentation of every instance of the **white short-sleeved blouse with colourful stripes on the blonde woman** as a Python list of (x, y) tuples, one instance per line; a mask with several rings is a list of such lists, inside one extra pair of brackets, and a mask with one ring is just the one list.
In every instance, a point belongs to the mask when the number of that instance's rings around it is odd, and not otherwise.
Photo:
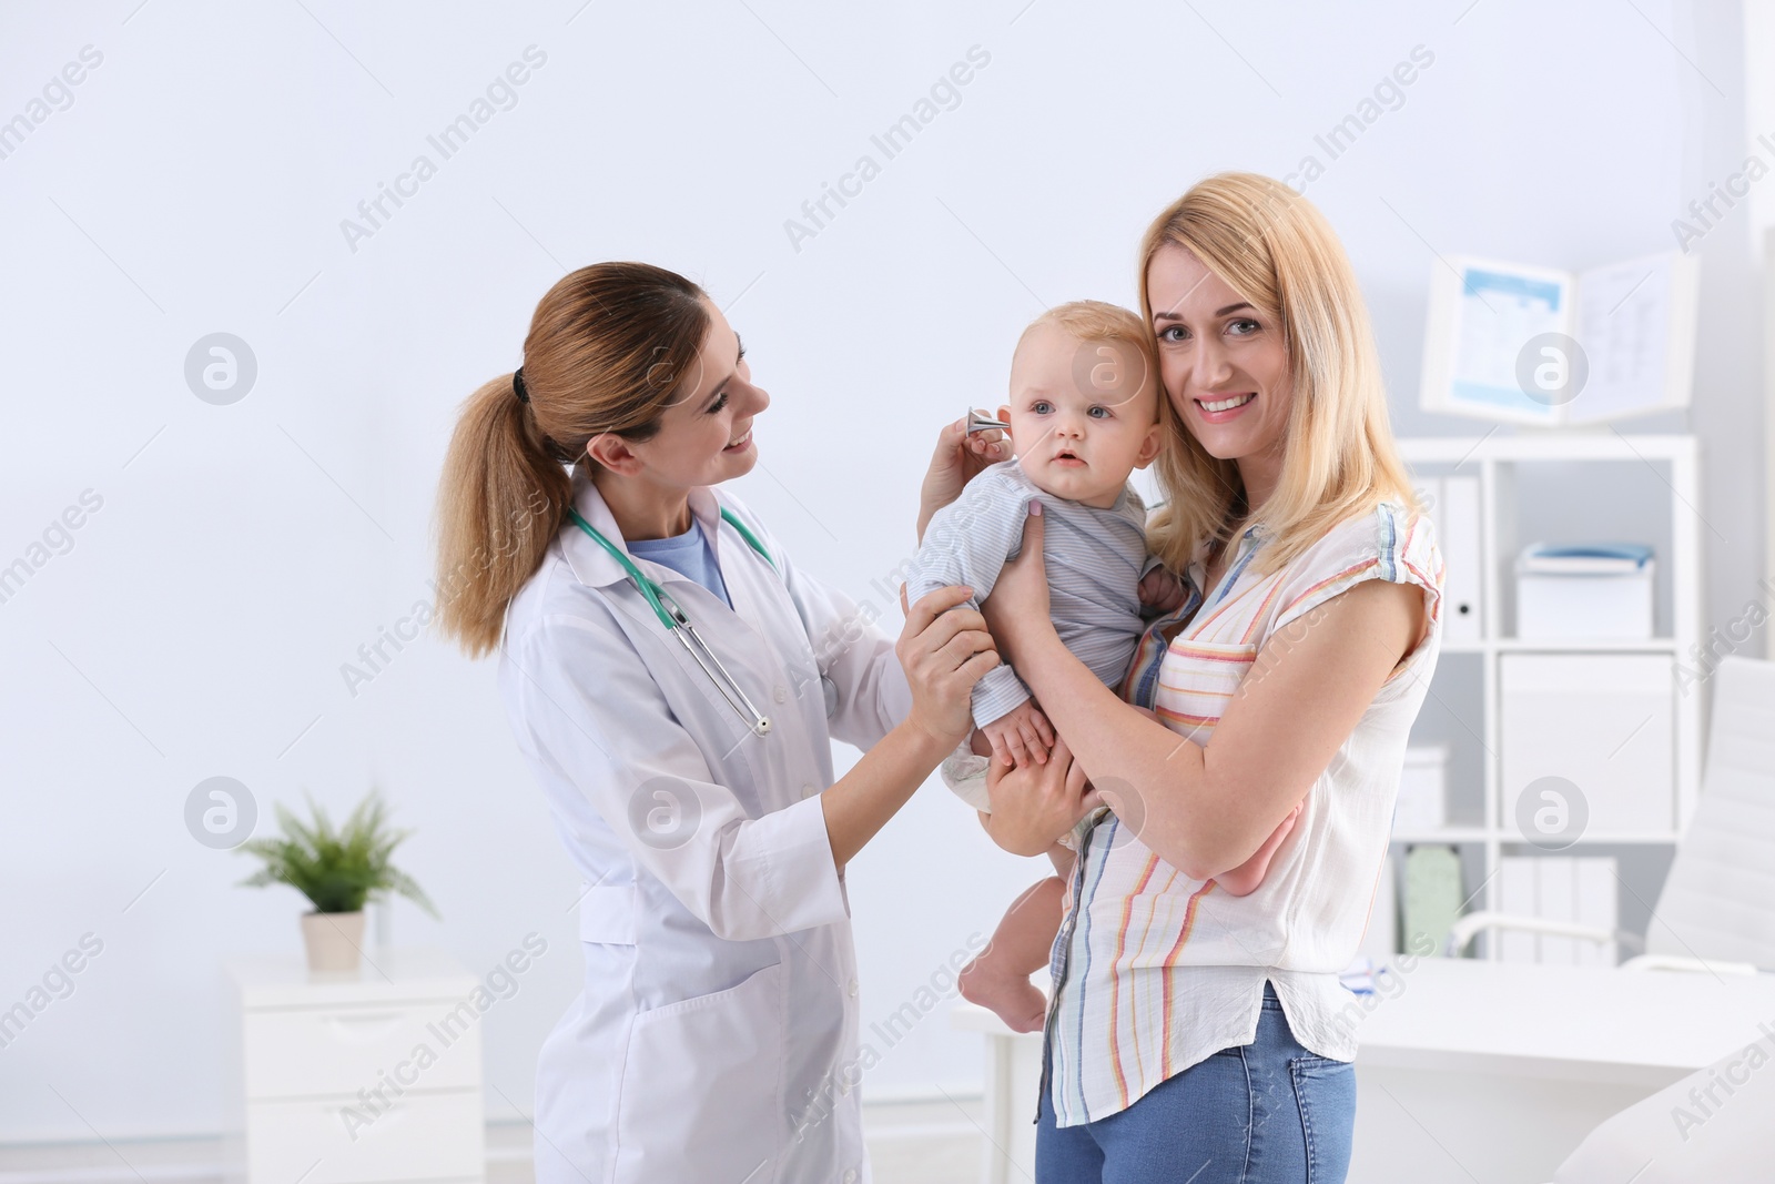
[(1079, 857), (1054, 939), (1044, 1056), (1061, 1127), (1127, 1109), (1166, 1077), (1255, 1040), (1266, 980), (1303, 1046), (1356, 1056), (1361, 1008), (1338, 971), (1361, 944), (1406, 737), (1441, 650), (1443, 561), (1429, 518), (1395, 502), (1331, 527), (1269, 575), (1251, 572), (1260, 547), (1258, 525), (1207, 596), (1198, 552), (1184, 605), (1143, 635), (1124, 699), (1205, 747), (1264, 641), (1361, 580), (1420, 586), (1429, 632), (1314, 781), (1248, 896), (1191, 880), (1108, 809), (1069, 836)]

